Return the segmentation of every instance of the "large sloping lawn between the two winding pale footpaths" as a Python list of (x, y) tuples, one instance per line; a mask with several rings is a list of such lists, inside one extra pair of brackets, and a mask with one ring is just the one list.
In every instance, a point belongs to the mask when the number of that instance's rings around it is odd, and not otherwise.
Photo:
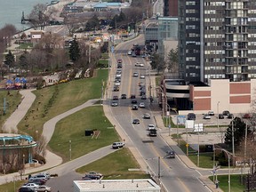
[(92, 78), (79, 79), (36, 90), (36, 100), (27, 115), (18, 124), (20, 132), (36, 137), (43, 125), (53, 116), (58, 116), (91, 99), (100, 99), (102, 80), (108, 78), (108, 70), (97, 70)]

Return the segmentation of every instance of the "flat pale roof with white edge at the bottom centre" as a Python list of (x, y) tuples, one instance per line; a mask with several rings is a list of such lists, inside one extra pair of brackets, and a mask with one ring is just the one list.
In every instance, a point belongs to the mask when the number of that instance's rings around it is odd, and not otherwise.
[(160, 187), (150, 179), (145, 180), (74, 180), (80, 191), (120, 191), (120, 190), (152, 190), (160, 191)]

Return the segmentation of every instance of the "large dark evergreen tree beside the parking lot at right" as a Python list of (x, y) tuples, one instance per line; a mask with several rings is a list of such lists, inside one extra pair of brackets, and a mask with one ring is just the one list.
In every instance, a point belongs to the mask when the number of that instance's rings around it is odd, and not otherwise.
[[(241, 141), (244, 140), (246, 124), (240, 117), (237, 116), (230, 122), (230, 124), (228, 125), (227, 132), (225, 133), (225, 143), (228, 146), (232, 146), (232, 122), (234, 128), (235, 147), (238, 147)], [(251, 133), (248, 127), (247, 133), (248, 135)]]

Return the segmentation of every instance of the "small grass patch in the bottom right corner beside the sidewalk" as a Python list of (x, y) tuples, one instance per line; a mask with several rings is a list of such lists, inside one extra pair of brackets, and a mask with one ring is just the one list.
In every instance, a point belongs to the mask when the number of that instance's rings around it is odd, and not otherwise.
[[(213, 180), (213, 177), (209, 177)], [(228, 192), (228, 175), (218, 175), (219, 187)], [(232, 192), (243, 192), (245, 187), (240, 183), (240, 175), (230, 175), (230, 189)]]

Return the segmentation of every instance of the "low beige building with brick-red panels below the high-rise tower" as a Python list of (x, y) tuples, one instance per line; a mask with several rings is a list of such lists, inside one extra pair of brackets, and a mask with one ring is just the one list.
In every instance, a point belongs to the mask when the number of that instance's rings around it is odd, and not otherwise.
[[(256, 79), (243, 82), (212, 79), (209, 83), (185, 84), (179, 79), (164, 79), (163, 95), (166, 96), (168, 103), (174, 103), (180, 115), (187, 115), (191, 111), (204, 114), (210, 110), (215, 114), (223, 110), (231, 113), (248, 113), (255, 107)], [(163, 99), (161, 95), (159, 98)]]

